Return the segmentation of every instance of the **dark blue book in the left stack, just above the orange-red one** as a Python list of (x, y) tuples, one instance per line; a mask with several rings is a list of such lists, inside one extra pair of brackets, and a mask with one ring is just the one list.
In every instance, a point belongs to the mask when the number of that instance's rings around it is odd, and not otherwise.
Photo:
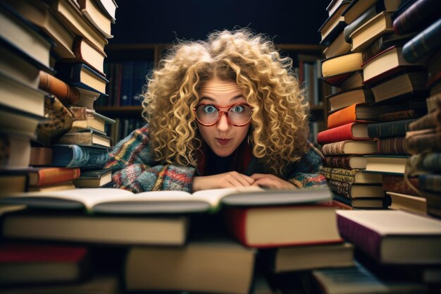
[(52, 165), (102, 169), (108, 161), (107, 149), (86, 148), (77, 145), (53, 146)]

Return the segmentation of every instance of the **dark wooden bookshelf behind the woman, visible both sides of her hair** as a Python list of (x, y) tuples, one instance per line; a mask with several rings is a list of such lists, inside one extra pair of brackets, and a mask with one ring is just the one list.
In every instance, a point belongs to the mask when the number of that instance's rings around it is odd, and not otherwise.
[[(115, 67), (122, 66), (132, 66), (132, 62), (135, 63), (135, 67), (139, 65), (139, 63), (149, 63), (147, 66), (147, 71), (151, 71), (154, 65), (156, 65), (160, 60), (164, 51), (167, 49), (169, 44), (108, 44), (106, 47), (106, 75), (109, 82), (108, 87), (108, 100), (101, 100), (100, 104), (95, 106), (95, 109), (99, 111), (99, 113), (109, 116), (111, 118), (122, 118), (122, 119), (133, 119), (134, 116), (141, 117), (142, 106), (139, 105), (139, 102), (136, 101), (137, 94), (142, 92), (141, 83), (136, 80), (140, 78), (144, 78), (147, 74), (145, 71), (138, 71), (135, 73), (136, 69), (132, 70), (132, 86), (133, 89), (130, 90), (132, 97), (135, 97), (130, 102), (122, 102), (123, 98), (123, 85), (120, 89), (116, 84), (118, 83), (118, 79), (124, 80), (124, 70), (115, 69)], [(299, 80), (302, 83), (303, 87), (306, 87), (308, 92), (311, 92), (309, 89), (312, 87), (316, 87), (316, 93), (311, 94), (316, 95), (316, 100), (312, 101), (312, 97), (306, 97), (306, 99), (310, 99), (311, 105), (311, 137), (312, 141), (315, 140), (316, 134), (318, 131), (323, 130), (325, 128), (325, 121), (327, 118), (327, 104), (324, 97), (330, 93), (330, 87), (325, 85), (324, 82), (319, 78), (321, 76), (321, 59), (323, 59), (323, 47), (317, 44), (277, 44), (280, 49), (280, 53), (283, 56), (290, 56), (293, 60), (294, 71), (299, 75)], [(302, 56), (306, 56), (307, 60), (302, 60)], [(314, 77), (314, 80), (306, 80), (302, 75), (304, 73), (303, 68), (299, 68), (302, 66), (310, 66), (313, 68), (311, 70), (311, 76)], [(137, 76), (137, 74), (141, 73), (141, 76)], [(135, 76), (136, 75), (136, 76)], [(121, 81), (124, 84), (124, 81)], [(315, 85), (315, 86), (314, 86)], [(115, 88), (116, 87), (116, 88)], [(121, 92), (123, 91), (123, 92)], [(122, 139), (120, 137), (119, 139)]]

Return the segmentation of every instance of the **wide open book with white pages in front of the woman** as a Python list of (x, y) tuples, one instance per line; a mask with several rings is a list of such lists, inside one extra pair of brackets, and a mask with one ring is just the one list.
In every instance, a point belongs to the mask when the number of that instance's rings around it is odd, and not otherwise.
[(135, 194), (114, 188), (84, 188), (17, 193), (0, 198), (0, 204), (25, 204), (29, 208), (85, 209), (102, 214), (177, 214), (217, 212), (222, 204), (262, 206), (328, 201), (328, 188), (268, 190), (258, 187), (184, 191), (149, 191)]

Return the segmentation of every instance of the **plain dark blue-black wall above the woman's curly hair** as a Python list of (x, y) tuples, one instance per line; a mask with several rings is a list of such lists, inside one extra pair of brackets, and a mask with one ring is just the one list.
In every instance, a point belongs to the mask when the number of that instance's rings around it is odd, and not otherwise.
[(249, 27), (276, 44), (318, 44), (330, 0), (116, 0), (110, 44), (205, 39), (213, 30)]

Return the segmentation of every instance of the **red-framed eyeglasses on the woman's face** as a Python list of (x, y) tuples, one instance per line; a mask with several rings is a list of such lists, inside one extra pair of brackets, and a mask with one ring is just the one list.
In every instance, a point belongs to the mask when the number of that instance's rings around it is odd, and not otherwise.
[[(227, 109), (221, 111), (221, 109)], [(247, 103), (235, 103), (228, 106), (218, 106), (211, 103), (201, 103), (193, 109), (196, 115), (197, 121), (201, 125), (211, 126), (216, 125), (221, 119), (221, 115), (225, 114), (227, 120), (232, 125), (242, 127), (247, 125), (251, 121), (251, 114), (253, 114), (254, 108)]]

